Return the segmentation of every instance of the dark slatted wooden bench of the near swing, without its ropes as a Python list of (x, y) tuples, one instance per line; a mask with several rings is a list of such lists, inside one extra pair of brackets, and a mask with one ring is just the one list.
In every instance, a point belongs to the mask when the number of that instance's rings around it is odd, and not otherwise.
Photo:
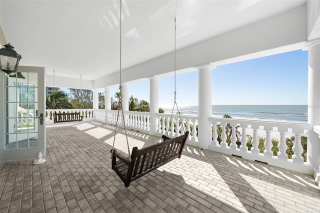
[[(121, 178), (125, 187), (128, 187), (131, 181), (177, 157), (180, 158), (188, 134), (186, 131), (185, 134), (174, 138), (162, 135), (163, 142), (141, 149), (135, 146), (132, 149), (131, 161), (129, 157), (113, 149), (112, 169)], [(110, 152), (112, 153), (112, 149)]]

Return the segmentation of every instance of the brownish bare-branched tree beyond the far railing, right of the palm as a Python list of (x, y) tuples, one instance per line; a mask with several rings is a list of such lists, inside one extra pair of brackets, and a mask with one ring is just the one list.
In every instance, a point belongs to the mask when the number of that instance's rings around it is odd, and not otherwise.
[(93, 92), (89, 89), (69, 88), (69, 102), (74, 108), (92, 108)]

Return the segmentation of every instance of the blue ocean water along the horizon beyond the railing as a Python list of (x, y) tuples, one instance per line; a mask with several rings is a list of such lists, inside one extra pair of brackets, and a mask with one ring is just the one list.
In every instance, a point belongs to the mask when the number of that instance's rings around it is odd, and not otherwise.
[[(166, 113), (172, 111), (172, 107), (162, 108)], [(179, 111), (185, 115), (197, 115), (198, 106), (179, 106)], [(212, 116), (222, 117), (224, 114), (232, 118), (307, 122), (307, 105), (212, 105)]]

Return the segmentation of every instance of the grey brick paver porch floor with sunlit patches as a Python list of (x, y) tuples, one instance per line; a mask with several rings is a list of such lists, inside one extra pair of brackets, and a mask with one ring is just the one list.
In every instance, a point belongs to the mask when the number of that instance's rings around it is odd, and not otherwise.
[[(114, 126), (47, 125), (46, 162), (0, 165), (0, 212), (320, 212), (311, 175), (185, 146), (129, 187), (111, 169)], [(130, 148), (159, 137), (128, 130)], [(115, 148), (127, 153), (123, 129)]]

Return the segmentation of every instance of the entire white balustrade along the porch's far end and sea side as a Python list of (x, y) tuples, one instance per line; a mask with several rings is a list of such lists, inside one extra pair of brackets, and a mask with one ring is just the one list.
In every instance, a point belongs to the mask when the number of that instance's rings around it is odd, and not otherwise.
[[(55, 110), (57, 112), (75, 112), (81, 109)], [(92, 120), (94, 117), (96, 121), (112, 125), (116, 124), (118, 110), (82, 109), (81, 111), (83, 120)], [(52, 113), (52, 109), (46, 110), (46, 123), (53, 123)], [(125, 111), (123, 113), (128, 129), (149, 133), (149, 112)], [(156, 135), (161, 136), (165, 134), (169, 137), (175, 137), (183, 134), (183, 127), (184, 130), (189, 131), (187, 144), (198, 146), (197, 116), (183, 114), (179, 116), (178, 114), (173, 114), (170, 120), (170, 113), (156, 113), (155, 115), (158, 120)], [(241, 156), (248, 160), (262, 161), (270, 165), (310, 173), (310, 166), (304, 162), (301, 156), (303, 153), (301, 136), (307, 136), (307, 130), (312, 129), (310, 124), (222, 117), (209, 117), (208, 120), (211, 122), (212, 127), (212, 140), (208, 141), (208, 149)], [(123, 127), (122, 124), (122, 112), (120, 111), (118, 126)], [(248, 140), (249, 137), (250, 140)], [(259, 142), (261, 137), (264, 139), (263, 144)], [(288, 158), (286, 139), (292, 137), (294, 138), (292, 146), (293, 154), (291, 158)], [(273, 150), (274, 139), (278, 141), (278, 151), (276, 152)], [(261, 146), (263, 147), (261, 148)]]

